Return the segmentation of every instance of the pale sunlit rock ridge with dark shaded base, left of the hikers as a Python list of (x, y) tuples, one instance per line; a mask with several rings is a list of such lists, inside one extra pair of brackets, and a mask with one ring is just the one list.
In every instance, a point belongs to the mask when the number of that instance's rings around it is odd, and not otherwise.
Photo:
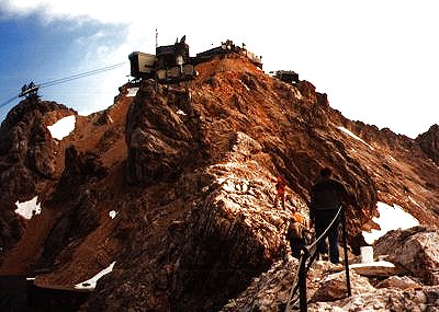
[[(290, 209), (273, 207), (270, 173), (256, 160), (269, 161), (262, 147), (243, 132), (230, 135), (223, 161), (209, 166), (212, 183), (176, 235), (172, 307), (214, 311), (250, 279), (285, 254)], [(194, 284), (200, 280), (201, 284)]]

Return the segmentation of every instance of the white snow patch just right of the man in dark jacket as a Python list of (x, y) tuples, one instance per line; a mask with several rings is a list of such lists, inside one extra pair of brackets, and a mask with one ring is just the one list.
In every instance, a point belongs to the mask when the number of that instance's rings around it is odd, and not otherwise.
[(405, 230), (419, 226), (419, 221), (415, 217), (405, 212), (403, 208), (397, 205), (392, 207), (381, 201), (376, 205), (380, 217), (374, 217), (373, 221), (380, 226), (381, 230), (372, 230), (370, 233), (363, 231), (363, 238), (368, 244), (373, 244), (374, 241), (391, 230)]

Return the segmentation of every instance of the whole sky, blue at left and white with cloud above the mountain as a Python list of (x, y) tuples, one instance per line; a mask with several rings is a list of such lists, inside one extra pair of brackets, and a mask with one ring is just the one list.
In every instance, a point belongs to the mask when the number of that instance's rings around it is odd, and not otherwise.
[(103, 109), (128, 80), (128, 54), (154, 53), (157, 27), (160, 45), (187, 35), (191, 55), (246, 43), (266, 72), (295, 70), (346, 117), (415, 138), (439, 123), (438, 9), (434, 0), (0, 0), (0, 104), (32, 80), (126, 62), (40, 92), (80, 114)]

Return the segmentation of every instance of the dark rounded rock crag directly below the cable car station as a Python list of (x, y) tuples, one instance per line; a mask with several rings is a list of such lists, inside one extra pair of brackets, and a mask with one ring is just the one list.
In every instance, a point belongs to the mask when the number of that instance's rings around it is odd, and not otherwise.
[(189, 91), (145, 81), (126, 117), (126, 181), (150, 185), (175, 180), (203, 155), (200, 124)]

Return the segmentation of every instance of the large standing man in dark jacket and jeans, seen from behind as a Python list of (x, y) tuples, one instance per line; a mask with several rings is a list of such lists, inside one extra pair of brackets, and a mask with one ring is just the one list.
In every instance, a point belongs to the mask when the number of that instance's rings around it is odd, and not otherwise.
[[(311, 227), (314, 226), (315, 236), (318, 239), (329, 227), (342, 204), (350, 204), (358, 207), (357, 199), (350, 195), (345, 185), (333, 178), (333, 171), (329, 167), (320, 170), (320, 181), (313, 185), (311, 190), (309, 219)], [(328, 230), (326, 238), (329, 242), (329, 259), (334, 264), (339, 263), (338, 253), (338, 229), (340, 216), (335, 220)], [(317, 252), (322, 259), (328, 259), (328, 246), (326, 238), (318, 241)]]

